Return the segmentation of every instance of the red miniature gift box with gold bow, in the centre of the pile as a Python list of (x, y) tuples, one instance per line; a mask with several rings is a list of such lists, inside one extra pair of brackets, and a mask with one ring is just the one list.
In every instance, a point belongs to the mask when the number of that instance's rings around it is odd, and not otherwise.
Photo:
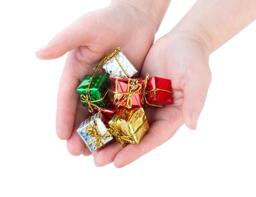
[(109, 78), (108, 101), (122, 107), (142, 107), (142, 78)]

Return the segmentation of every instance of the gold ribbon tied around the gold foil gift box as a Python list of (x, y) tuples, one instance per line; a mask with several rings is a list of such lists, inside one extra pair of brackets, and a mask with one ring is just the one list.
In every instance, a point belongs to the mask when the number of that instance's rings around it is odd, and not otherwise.
[(137, 128), (137, 130), (133, 134), (125, 135), (124, 133), (122, 133), (122, 131), (118, 128), (118, 125), (116, 124), (116, 122), (119, 120), (119, 118), (122, 116), (124, 112), (125, 110), (116, 118), (116, 121), (113, 124), (111, 124), (111, 128), (108, 129), (109, 133), (115, 136), (116, 141), (120, 142), (122, 147), (125, 147), (125, 144), (127, 143), (135, 144), (134, 139), (131, 139), (131, 137), (134, 137), (148, 121), (148, 119), (145, 118), (143, 123), (140, 125), (140, 127)]

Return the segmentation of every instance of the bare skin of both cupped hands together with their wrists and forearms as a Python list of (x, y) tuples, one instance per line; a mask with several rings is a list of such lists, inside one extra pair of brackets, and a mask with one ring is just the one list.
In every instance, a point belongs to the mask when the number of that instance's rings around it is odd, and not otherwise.
[(145, 109), (151, 128), (140, 144), (125, 148), (118, 142), (106, 145), (93, 152), (97, 166), (114, 162), (123, 167), (169, 140), (184, 123), (195, 129), (211, 81), (209, 55), (256, 18), (255, 0), (198, 0), (175, 28), (151, 47), (169, 1), (161, 1), (160, 6), (156, 0), (124, 2), (113, 1), (108, 8), (81, 17), (36, 53), (38, 58), (52, 59), (70, 51), (59, 86), (56, 130), (60, 139), (67, 139), (73, 155), (90, 154), (76, 133), (78, 124), (89, 116), (78, 102), (76, 87), (108, 52), (120, 46), (141, 70), (141, 77), (149, 73), (172, 80), (174, 104)]

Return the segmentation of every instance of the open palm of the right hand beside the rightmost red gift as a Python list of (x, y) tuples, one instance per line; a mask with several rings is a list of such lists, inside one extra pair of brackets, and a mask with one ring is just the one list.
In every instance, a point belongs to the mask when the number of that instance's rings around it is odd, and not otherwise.
[[(157, 113), (160, 113), (159, 119), (168, 119), (169, 127), (172, 125), (172, 130), (169, 131), (171, 136), (183, 122), (193, 128), (191, 120), (185, 116), (190, 110), (189, 102), (193, 103), (199, 99), (200, 104), (203, 105), (206, 99), (205, 91), (198, 89), (207, 90), (211, 81), (208, 57), (204, 47), (198, 41), (186, 37), (172, 38), (172, 36), (165, 36), (158, 40), (147, 55), (142, 75), (149, 73), (172, 79), (174, 104), (157, 109)], [(156, 65), (158, 65), (157, 69)]]

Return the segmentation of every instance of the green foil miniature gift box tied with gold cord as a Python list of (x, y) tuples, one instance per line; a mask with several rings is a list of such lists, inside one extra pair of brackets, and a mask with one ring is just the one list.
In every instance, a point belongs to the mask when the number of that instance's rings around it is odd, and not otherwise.
[[(80, 100), (84, 106), (105, 106), (108, 92), (108, 76), (85, 75), (81, 84), (77, 88)], [(89, 109), (90, 110), (90, 109)], [(90, 110), (92, 112), (92, 110)]]

